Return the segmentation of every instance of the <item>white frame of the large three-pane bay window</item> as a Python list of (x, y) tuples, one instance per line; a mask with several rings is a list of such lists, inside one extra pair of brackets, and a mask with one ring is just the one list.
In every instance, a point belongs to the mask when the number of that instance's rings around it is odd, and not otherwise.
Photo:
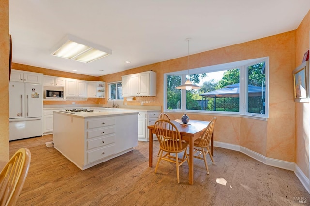
[[(265, 61), (265, 114), (249, 113), (248, 107), (248, 92), (246, 93), (246, 87), (248, 87), (248, 66), (255, 65), (257, 63)], [(240, 69), (240, 96), (239, 96), (239, 112), (227, 112), (227, 111), (205, 111), (205, 110), (187, 110), (186, 109), (186, 90), (181, 90), (181, 109), (167, 109), (167, 76), (168, 75), (179, 75), (181, 76), (181, 82), (186, 81), (187, 74), (201, 74), (210, 73), (230, 69)], [(238, 116), (246, 118), (254, 118), (267, 120), (269, 118), (269, 57), (262, 57), (256, 59), (247, 59), (242, 61), (230, 62), (225, 64), (218, 64), (212, 66), (206, 66), (201, 68), (195, 68), (190, 70), (182, 70), (177, 72), (164, 73), (164, 97), (163, 97), (163, 111), (164, 112), (190, 112), (190, 113), (206, 113), (214, 115), (224, 116)]]

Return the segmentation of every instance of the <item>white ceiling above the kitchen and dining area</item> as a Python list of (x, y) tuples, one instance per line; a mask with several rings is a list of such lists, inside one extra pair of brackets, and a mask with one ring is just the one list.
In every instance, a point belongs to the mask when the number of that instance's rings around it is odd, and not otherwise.
[[(195, 54), (291, 31), (309, 9), (310, 0), (9, 0), (12, 61), (102, 76), (186, 56), (188, 37)], [(113, 54), (52, 56), (67, 34)]]

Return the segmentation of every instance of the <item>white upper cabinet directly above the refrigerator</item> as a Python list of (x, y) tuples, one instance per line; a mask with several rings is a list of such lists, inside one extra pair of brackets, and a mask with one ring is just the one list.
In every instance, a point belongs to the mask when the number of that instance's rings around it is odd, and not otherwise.
[(43, 74), (36, 72), (26, 72), (21, 70), (11, 70), (10, 81), (28, 82), (42, 84)]

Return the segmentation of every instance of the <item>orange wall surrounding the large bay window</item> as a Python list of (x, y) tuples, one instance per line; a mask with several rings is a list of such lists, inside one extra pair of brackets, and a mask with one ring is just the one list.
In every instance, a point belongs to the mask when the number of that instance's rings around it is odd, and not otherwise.
[[(218, 116), (216, 141), (241, 145), (266, 157), (295, 161), (295, 112), (292, 70), (295, 68), (296, 31), (266, 37), (242, 44), (190, 55), (189, 68), (254, 59), (269, 56), (270, 94), (269, 119), (260, 121), (239, 117)], [(171, 59), (152, 65), (100, 77), (102, 81), (121, 80), (122, 75), (153, 70), (157, 73), (157, 97), (144, 105), (163, 106), (163, 74), (186, 70), (187, 57)], [(139, 102), (127, 102), (137, 105)], [(169, 113), (180, 118), (180, 113)], [(190, 118), (210, 120), (213, 116), (189, 113)], [(285, 151), (285, 152), (284, 152)]]

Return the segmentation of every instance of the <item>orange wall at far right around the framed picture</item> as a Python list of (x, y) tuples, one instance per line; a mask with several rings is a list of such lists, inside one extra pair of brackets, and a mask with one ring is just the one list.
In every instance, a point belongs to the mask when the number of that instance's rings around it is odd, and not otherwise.
[[(304, 53), (309, 50), (310, 10), (296, 30), (296, 64), (302, 63)], [(295, 103), (296, 108), (296, 164), (309, 177), (309, 103)]]

